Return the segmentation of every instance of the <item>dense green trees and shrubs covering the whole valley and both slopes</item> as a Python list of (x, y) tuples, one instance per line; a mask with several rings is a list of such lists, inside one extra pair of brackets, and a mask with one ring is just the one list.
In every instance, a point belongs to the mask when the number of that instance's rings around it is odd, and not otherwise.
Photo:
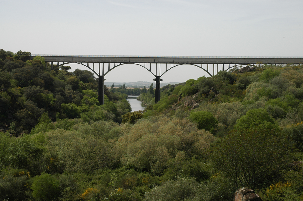
[[(303, 197), (303, 68), (261, 65), (140, 91), (0, 50), (1, 200), (264, 200)], [(120, 90), (120, 91), (119, 91)]]

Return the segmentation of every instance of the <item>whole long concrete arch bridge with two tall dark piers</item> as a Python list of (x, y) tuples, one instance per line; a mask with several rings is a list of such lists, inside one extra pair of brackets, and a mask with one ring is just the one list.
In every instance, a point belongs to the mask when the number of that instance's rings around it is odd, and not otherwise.
[[(156, 81), (155, 102), (160, 100), (161, 76), (180, 65), (193, 65), (210, 76), (218, 71), (227, 71), (237, 65), (260, 66), (261, 64), (302, 64), (303, 57), (151, 57), (151, 56), (74, 56), (74, 55), (32, 55), (42, 56), (51, 63), (51, 68), (65, 64), (78, 63), (86, 66), (98, 76), (98, 101), (104, 104), (104, 76), (114, 68), (124, 64), (139, 65), (148, 70)], [(96, 66), (95, 66), (96, 65)], [(161, 68), (162, 67), (162, 68)], [(162, 72), (161, 72), (162, 69)]]

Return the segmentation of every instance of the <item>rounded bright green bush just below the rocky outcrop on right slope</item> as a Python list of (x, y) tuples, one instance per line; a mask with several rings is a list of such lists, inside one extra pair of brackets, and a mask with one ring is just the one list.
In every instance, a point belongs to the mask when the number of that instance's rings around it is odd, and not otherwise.
[(207, 111), (191, 112), (188, 118), (196, 122), (199, 129), (205, 129), (211, 133), (214, 133), (218, 126), (218, 120)]

